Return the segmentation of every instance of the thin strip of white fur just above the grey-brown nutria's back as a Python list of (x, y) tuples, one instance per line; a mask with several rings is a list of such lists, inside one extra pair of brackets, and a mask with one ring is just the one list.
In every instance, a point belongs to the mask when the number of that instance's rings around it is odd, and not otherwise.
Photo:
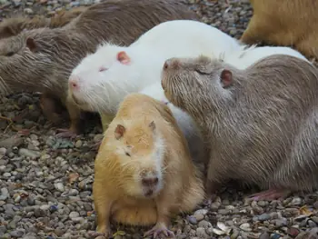
[(288, 46), (258, 46), (242, 45), (232, 54), (224, 55), (224, 62), (244, 69), (269, 55), (292, 55), (309, 62), (304, 55)]

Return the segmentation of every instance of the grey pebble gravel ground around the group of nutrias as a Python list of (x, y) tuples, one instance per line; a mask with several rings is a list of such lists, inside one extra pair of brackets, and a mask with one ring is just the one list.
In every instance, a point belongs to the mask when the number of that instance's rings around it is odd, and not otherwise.
[[(92, 0), (0, 0), (0, 20), (16, 12), (52, 15), (62, 7), (91, 5)], [(247, 1), (189, 0), (202, 21), (240, 37), (252, 15)], [(95, 228), (92, 205), (95, 151), (101, 126), (74, 140), (55, 138), (45, 121), (38, 95), (0, 99), (0, 238), (89, 238)], [(95, 125), (95, 124), (94, 124)], [(67, 126), (67, 122), (65, 123)], [(32, 134), (20, 135), (18, 129)], [(318, 238), (318, 194), (283, 201), (251, 202), (250, 192), (224, 189), (211, 205), (174, 220), (177, 238)], [(141, 238), (142, 228), (115, 226), (114, 238)], [(102, 239), (104, 237), (99, 237)]]

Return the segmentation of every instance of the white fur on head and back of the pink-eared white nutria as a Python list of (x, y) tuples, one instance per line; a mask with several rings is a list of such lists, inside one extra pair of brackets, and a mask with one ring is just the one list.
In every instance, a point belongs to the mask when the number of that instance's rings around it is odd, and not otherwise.
[[(81, 79), (74, 95), (92, 111), (115, 114), (125, 95), (160, 81), (166, 59), (198, 55), (219, 57), (239, 46), (236, 39), (211, 25), (192, 20), (164, 22), (141, 35), (130, 46), (104, 43), (93, 55), (87, 55), (72, 73)], [(116, 55), (120, 51), (131, 57), (131, 65), (117, 61)], [(98, 72), (101, 66), (108, 70)]]

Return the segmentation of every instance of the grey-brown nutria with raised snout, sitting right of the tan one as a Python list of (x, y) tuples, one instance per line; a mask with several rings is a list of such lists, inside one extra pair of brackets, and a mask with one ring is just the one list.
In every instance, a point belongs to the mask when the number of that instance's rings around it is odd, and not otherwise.
[(210, 147), (207, 190), (241, 180), (269, 189), (253, 199), (271, 200), (317, 188), (313, 65), (271, 55), (239, 70), (201, 56), (169, 59), (163, 72), (164, 94), (194, 117)]

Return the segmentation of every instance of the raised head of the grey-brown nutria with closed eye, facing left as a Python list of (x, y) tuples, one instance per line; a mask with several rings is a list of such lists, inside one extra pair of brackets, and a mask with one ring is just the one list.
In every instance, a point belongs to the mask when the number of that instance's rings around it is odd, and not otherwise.
[(162, 73), (164, 95), (191, 115), (204, 115), (200, 110), (213, 112), (219, 102), (231, 98), (233, 71), (237, 70), (203, 55), (168, 59)]

